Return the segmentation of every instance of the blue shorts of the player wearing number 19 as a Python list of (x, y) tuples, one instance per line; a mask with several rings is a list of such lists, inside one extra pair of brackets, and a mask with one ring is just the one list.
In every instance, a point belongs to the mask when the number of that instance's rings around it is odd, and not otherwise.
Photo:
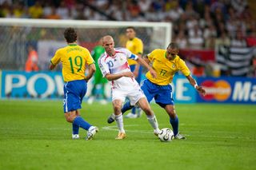
[(81, 109), (82, 98), (86, 95), (87, 82), (85, 80), (68, 81), (64, 85), (64, 113)]

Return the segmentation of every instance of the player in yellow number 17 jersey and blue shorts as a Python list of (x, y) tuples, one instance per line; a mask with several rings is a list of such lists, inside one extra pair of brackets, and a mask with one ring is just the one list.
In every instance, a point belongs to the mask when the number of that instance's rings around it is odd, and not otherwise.
[[(178, 116), (174, 109), (174, 99), (170, 83), (173, 80), (174, 74), (181, 71), (190, 81), (190, 84), (197, 89), (198, 93), (205, 95), (206, 90), (198, 86), (194, 78), (191, 77), (190, 69), (186, 66), (185, 61), (178, 56), (178, 45), (176, 43), (170, 43), (167, 49), (154, 49), (146, 55), (145, 60), (147, 63), (152, 63), (152, 67), (157, 73), (156, 78), (152, 77), (150, 73), (146, 73), (146, 80), (143, 81), (141, 88), (147, 100), (150, 102), (154, 98), (155, 102), (166, 110), (170, 117), (170, 125), (173, 128), (175, 138), (186, 139), (185, 136), (178, 132)], [(132, 107), (134, 106), (127, 102), (122, 107), (122, 113), (125, 113)]]

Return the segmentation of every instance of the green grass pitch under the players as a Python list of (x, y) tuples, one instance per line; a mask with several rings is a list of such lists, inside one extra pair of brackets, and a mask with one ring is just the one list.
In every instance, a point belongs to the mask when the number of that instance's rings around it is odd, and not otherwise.
[[(169, 118), (151, 105), (160, 128)], [(114, 140), (111, 104), (82, 104), (100, 128), (94, 140), (71, 140), (62, 101), (0, 101), (0, 169), (255, 169), (256, 105), (176, 105), (187, 140), (160, 142), (146, 116), (124, 119), (127, 138)]]

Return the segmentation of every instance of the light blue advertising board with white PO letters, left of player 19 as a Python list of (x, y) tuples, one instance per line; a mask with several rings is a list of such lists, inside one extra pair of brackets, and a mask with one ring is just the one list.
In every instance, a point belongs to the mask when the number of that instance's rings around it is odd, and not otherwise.
[(60, 72), (2, 71), (1, 97), (62, 98)]

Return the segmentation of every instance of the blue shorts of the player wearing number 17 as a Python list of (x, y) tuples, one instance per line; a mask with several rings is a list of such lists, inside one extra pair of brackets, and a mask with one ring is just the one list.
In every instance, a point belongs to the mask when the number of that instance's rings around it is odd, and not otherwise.
[(166, 105), (174, 105), (171, 85), (156, 85), (146, 79), (142, 82), (142, 91), (147, 101), (154, 101), (164, 108)]

